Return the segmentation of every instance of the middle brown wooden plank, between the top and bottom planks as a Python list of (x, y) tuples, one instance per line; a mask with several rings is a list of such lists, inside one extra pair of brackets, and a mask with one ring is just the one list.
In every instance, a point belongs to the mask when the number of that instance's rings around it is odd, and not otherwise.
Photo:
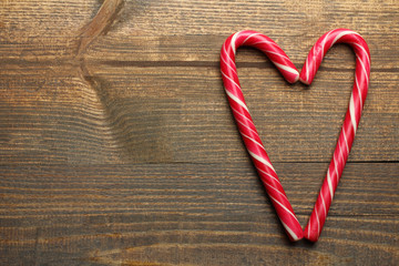
[[(88, 65), (96, 88), (78, 66), (48, 71), (33, 65), (23, 74), (9, 69), (0, 75), (1, 160), (248, 160), (217, 68)], [(239, 72), (272, 162), (330, 160), (350, 95), (350, 72), (320, 72), (310, 89), (289, 86), (272, 68)], [(395, 73), (378, 78), (349, 161), (399, 161), (398, 81)]]

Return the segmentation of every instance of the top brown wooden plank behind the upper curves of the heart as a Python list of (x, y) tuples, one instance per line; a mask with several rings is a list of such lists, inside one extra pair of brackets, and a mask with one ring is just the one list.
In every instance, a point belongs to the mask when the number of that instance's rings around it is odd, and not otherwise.
[[(74, 51), (80, 29), (100, 7), (94, 0), (70, 2), (3, 4), (4, 31), (0, 34), (8, 44), (1, 48), (4, 54), (32, 60), (68, 57)], [(88, 55), (141, 61), (215, 61), (225, 38), (237, 30), (254, 29), (274, 38), (294, 62), (301, 64), (324, 32), (349, 28), (365, 35), (374, 62), (383, 60), (385, 64), (376, 65), (397, 68), (391, 59), (398, 58), (395, 49), (398, 29), (391, 25), (398, 24), (398, 12), (396, 2), (377, 0), (340, 1), (334, 7), (311, 2), (306, 8), (299, 1), (126, 1), (115, 24), (92, 43)]]

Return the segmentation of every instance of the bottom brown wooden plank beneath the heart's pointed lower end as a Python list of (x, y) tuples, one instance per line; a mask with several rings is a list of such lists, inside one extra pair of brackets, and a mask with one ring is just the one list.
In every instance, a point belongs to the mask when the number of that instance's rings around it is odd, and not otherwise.
[[(276, 164), (301, 224), (326, 167)], [(392, 265), (397, 173), (349, 163), (309, 248), (288, 244), (250, 164), (1, 165), (1, 263)]]

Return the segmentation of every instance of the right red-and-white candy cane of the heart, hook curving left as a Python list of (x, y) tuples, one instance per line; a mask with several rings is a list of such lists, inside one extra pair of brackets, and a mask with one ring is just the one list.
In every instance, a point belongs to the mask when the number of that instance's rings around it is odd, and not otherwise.
[(360, 121), (370, 80), (370, 52), (366, 41), (355, 31), (336, 29), (324, 34), (311, 48), (304, 68), (300, 71), (300, 81), (306, 84), (311, 83), (323, 58), (327, 53), (328, 49), (336, 43), (347, 43), (355, 51), (355, 82), (349, 100), (348, 111), (345, 116), (331, 162), (327, 170), (327, 174), (321, 185), (314, 211), (304, 232), (304, 236), (311, 242), (316, 242), (318, 239), (325, 224), (328, 209), (332, 202), (334, 193), (337, 188), (355, 140), (356, 130)]

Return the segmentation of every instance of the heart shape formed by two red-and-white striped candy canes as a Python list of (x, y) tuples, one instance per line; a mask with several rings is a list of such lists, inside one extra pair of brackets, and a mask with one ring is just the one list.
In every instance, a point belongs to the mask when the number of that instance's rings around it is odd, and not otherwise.
[[(323, 58), (336, 43), (347, 43), (355, 51), (356, 71), (354, 89), (326, 177), (308, 224), (305, 231), (303, 231), (276, 171), (267, 156), (245, 103), (235, 65), (235, 54), (237, 48), (243, 45), (257, 48), (269, 58), (289, 83), (300, 80), (309, 85), (316, 75)], [(311, 48), (299, 74), (287, 54), (270, 38), (256, 31), (241, 31), (232, 34), (224, 42), (221, 52), (221, 71), (238, 131), (288, 237), (291, 241), (299, 241), (305, 237), (316, 242), (320, 236), (334, 193), (348, 160), (367, 96), (370, 76), (370, 52), (366, 41), (351, 30), (336, 29), (328, 31)]]

